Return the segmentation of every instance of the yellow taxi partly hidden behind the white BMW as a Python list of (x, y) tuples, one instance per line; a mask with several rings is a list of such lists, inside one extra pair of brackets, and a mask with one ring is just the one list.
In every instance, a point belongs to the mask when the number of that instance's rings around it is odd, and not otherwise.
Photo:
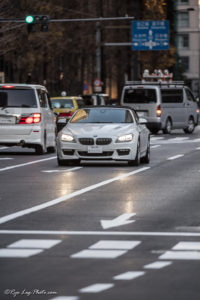
[(73, 113), (84, 106), (83, 98), (80, 96), (65, 96), (51, 98), (54, 113), (57, 115), (57, 128), (64, 127)]

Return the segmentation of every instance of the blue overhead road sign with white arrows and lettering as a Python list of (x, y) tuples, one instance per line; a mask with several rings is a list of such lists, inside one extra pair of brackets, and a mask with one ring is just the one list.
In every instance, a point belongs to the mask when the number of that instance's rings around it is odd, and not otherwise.
[(132, 21), (132, 50), (168, 50), (169, 21)]

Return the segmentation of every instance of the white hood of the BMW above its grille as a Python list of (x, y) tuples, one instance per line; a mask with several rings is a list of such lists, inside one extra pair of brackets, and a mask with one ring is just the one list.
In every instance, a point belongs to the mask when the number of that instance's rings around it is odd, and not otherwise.
[(106, 137), (127, 134), (133, 131), (133, 124), (70, 124), (62, 130), (63, 133), (70, 133), (74, 136), (85, 137)]

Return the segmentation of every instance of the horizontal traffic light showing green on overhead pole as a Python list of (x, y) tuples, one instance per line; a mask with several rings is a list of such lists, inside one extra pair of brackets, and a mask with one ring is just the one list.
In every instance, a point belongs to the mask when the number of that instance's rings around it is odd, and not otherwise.
[(25, 22), (27, 23), (28, 33), (34, 31), (34, 25), (40, 25), (40, 31), (47, 32), (50, 18), (47, 15), (29, 15), (26, 16)]

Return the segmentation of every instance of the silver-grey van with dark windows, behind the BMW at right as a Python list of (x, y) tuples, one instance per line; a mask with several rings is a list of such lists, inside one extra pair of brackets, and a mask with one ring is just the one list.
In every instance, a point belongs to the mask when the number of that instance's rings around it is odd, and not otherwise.
[(197, 102), (183, 82), (126, 82), (121, 105), (134, 108), (139, 117), (147, 120), (147, 127), (156, 134), (183, 129), (192, 133), (198, 125)]

